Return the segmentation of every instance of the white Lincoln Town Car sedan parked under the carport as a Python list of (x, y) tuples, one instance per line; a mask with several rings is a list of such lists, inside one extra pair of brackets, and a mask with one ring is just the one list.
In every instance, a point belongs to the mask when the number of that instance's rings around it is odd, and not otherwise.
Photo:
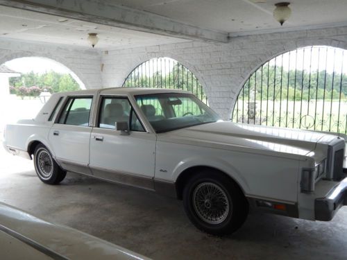
[(4, 146), (33, 158), (44, 183), (71, 171), (174, 196), (222, 235), (250, 207), (331, 220), (347, 205), (345, 138), (221, 121), (189, 92), (111, 88), (53, 94), (35, 119), (6, 126)]

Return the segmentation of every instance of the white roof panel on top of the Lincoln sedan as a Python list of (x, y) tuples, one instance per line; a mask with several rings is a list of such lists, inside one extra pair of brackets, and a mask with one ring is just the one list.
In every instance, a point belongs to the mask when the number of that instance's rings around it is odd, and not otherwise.
[(158, 93), (190, 93), (180, 89), (155, 89), (147, 87), (110, 87), (103, 89), (83, 89), (75, 92), (63, 92), (60, 94), (69, 95), (94, 95), (100, 94), (118, 94), (118, 95), (141, 95), (141, 94), (158, 94)]

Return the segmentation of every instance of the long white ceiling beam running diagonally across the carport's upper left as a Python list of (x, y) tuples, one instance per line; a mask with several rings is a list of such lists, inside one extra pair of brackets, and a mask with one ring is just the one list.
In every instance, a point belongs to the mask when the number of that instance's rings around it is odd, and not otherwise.
[(119, 6), (110, 0), (0, 0), (0, 6), (187, 40), (228, 42), (228, 33), (199, 28), (151, 12)]

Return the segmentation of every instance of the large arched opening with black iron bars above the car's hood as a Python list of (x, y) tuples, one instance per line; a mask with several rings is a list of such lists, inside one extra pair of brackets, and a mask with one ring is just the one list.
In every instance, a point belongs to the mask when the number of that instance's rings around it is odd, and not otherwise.
[(244, 83), (232, 121), (347, 133), (347, 52), (307, 46), (265, 62)]

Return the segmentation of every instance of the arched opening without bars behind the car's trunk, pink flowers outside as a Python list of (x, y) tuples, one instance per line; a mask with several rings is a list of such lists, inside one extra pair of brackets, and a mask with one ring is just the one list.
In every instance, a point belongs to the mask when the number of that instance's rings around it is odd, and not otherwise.
[(50, 94), (85, 89), (76, 73), (49, 58), (16, 55), (1, 67), (11, 73), (0, 71), (0, 132), (6, 123), (35, 117)]

